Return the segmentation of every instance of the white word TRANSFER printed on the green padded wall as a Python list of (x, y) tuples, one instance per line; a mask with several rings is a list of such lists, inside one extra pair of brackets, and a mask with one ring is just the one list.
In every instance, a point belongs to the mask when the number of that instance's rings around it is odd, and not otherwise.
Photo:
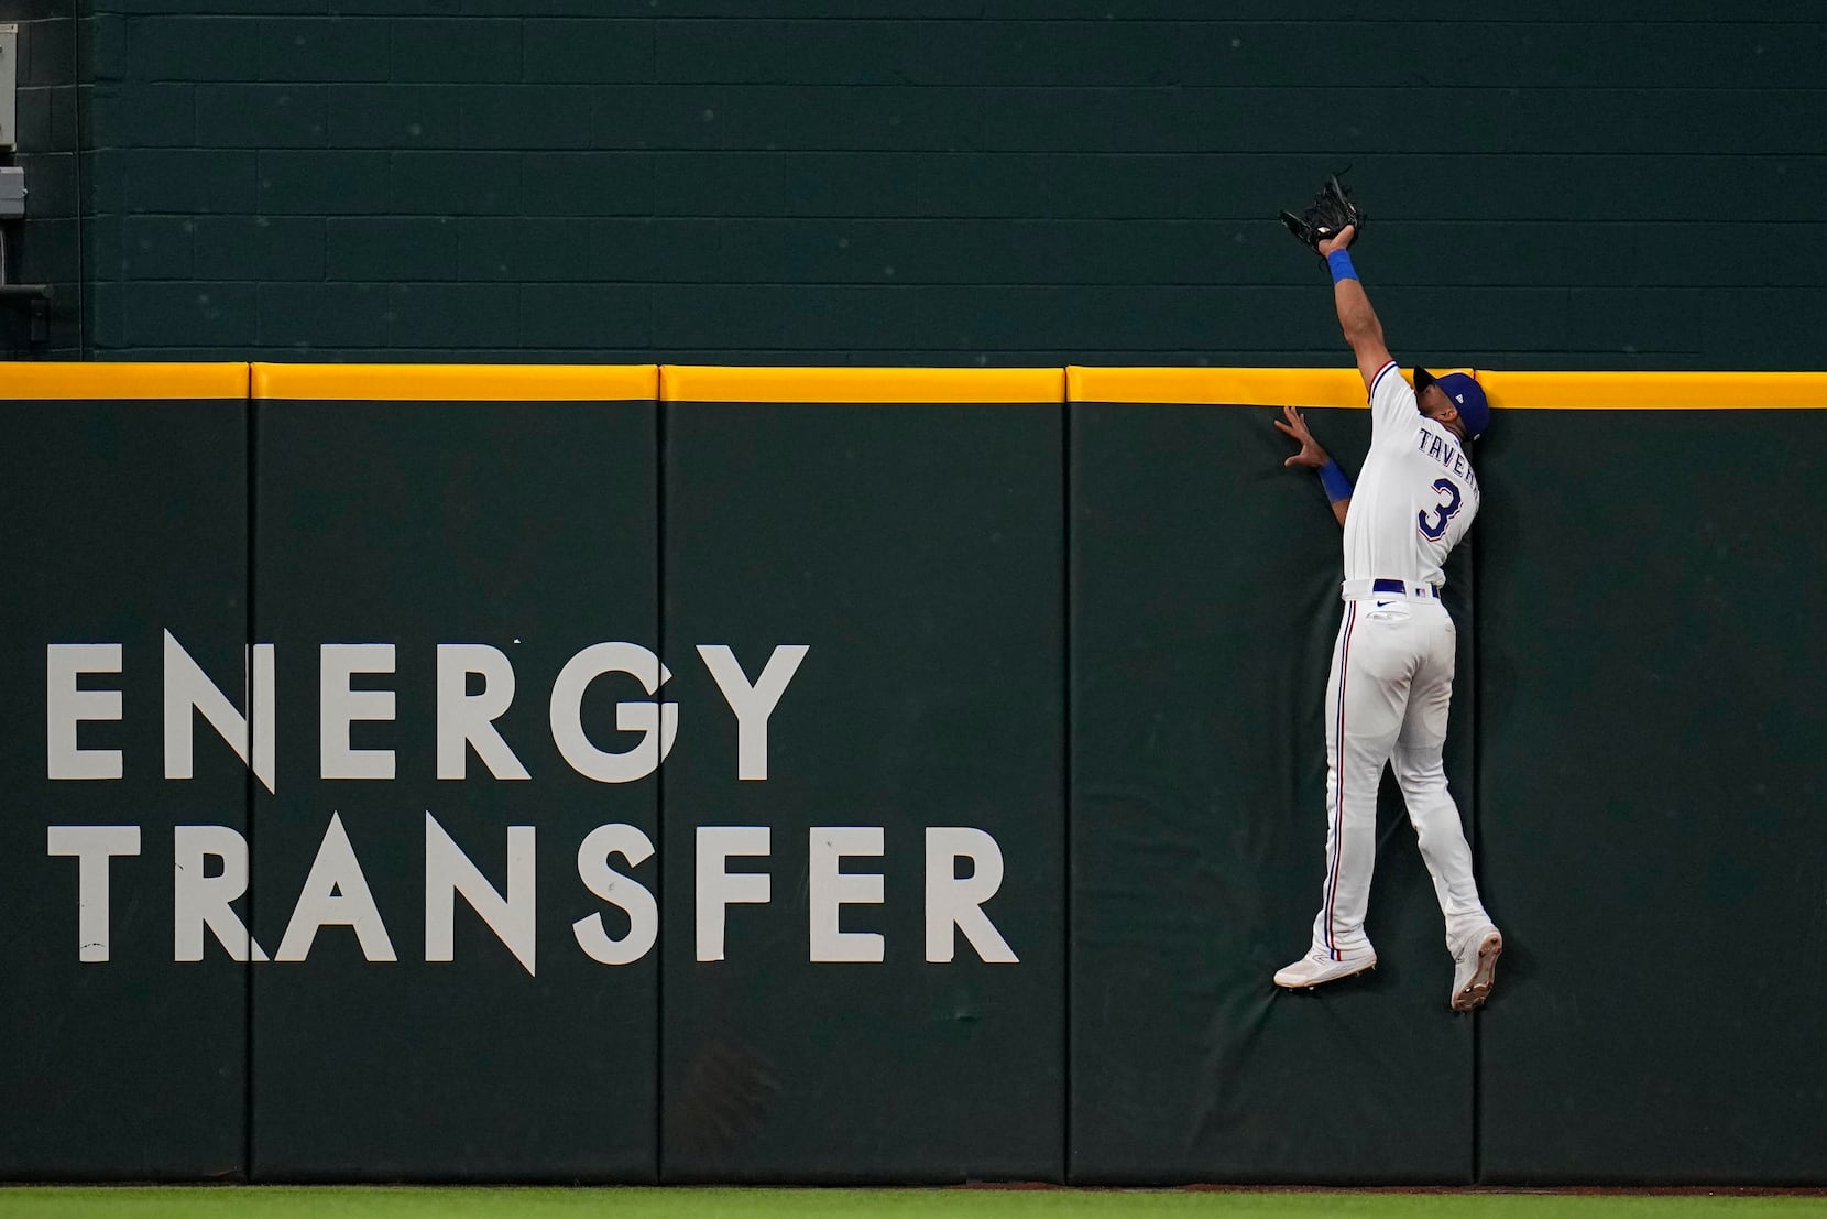
[[(455, 910), (457, 897), (462, 897), (526, 974), (535, 974), (537, 832), (533, 826), (508, 826), (506, 832), (506, 886), (497, 890), (438, 819), (426, 811), (420, 896), (428, 963), (455, 959)], [(886, 958), (886, 936), (857, 930), (857, 925), (870, 921), (870, 916), (857, 906), (884, 903), (882, 874), (857, 861), (882, 857), (884, 843), (882, 826), (811, 826), (804, 859), (784, 861), (784, 870), (795, 877), (789, 890), (793, 896), (773, 910), (736, 914), (731, 906), (769, 906), (775, 899), (773, 877), (767, 872), (775, 848), (773, 832), (769, 826), (696, 826), (692, 886), (696, 959), (725, 959), (725, 927), (729, 919), (742, 917), (749, 921), (745, 932), (764, 934), (769, 939), (780, 934), (782, 919), (806, 927), (808, 959), (813, 963), (881, 963)], [(568, 843), (565, 850), (570, 850)], [(139, 859), (141, 828), (48, 826), (46, 853), (51, 859), (75, 859), (73, 921), (79, 959), (95, 965), (110, 961), (111, 881), (119, 879), (119, 870), (153, 866)], [(559, 934), (601, 965), (639, 961), (660, 938), (660, 906), (652, 890), (630, 872), (654, 855), (652, 839), (638, 826), (603, 824), (583, 837), (576, 855), (581, 892), (576, 905), (568, 905), (565, 917), (570, 919), (572, 914), (577, 917), (570, 921), (568, 936)], [(618, 857), (625, 861), (621, 864), (625, 870), (618, 870), (614, 863)], [(742, 870), (731, 872), (731, 859), (747, 863)], [(966, 875), (959, 877), (963, 859), (970, 864), (963, 868)], [(851, 861), (850, 866), (844, 861)], [(1018, 963), (1009, 941), (983, 908), (1003, 883), (1003, 852), (996, 839), (972, 826), (926, 826), (924, 866), (926, 961), (950, 963), (956, 956), (957, 932), (963, 932), (979, 959)], [(333, 934), (353, 932), (365, 961), (400, 959), (382, 917), (382, 903), (376, 903), (369, 888), (367, 874), (340, 813), (331, 813), (311, 874), (298, 890), (285, 932), (270, 956), (254, 941), (234, 908), (234, 903), (245, 897), (248, 883), (248, 846), (238, 830), (175, 826), (172, 861), (161, 872), (172, 877), (174, 961), (205, 959), (206, 938), (214, 941), (208, 952), (217, 959), (225, 954), (234, 961), (305, 961), (325, 928), (349, 928)], [(806, 894), (804, 905), (798, 901), (798, 892)], [(623, 934), (610, 934), (603, 910), (592, 910), (597, 905), (590, 901), (592, 896), (619, 912), (612, 923), (618, 928), (625, 925)], [(839, 925), (844, 906), (851, 908), (844, 919), (851, 930), (842, 930)], [(398, 917), (400, 905), (391, 908)], [(413, 901), (409, 908), (417, 912), (420, 906)]]

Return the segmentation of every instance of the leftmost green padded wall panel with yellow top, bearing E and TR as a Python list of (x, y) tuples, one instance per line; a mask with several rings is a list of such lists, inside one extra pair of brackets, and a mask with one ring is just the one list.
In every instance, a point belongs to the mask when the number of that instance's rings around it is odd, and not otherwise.
[(161, 689), (247, 707), (247, 366), (9, 369), (0, 1177), (236, 1179), (247, 965), (174, 908), (247, 917), (247, 768)]

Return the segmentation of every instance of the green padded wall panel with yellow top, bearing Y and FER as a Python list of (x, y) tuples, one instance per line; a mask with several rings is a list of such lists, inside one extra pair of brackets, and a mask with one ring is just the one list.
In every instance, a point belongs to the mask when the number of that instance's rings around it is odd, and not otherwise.
[[(665, 369), (669, 1181), (1063, 1173), (1063, 380)], [(791, 673), (753, 760), (702, 645)]]

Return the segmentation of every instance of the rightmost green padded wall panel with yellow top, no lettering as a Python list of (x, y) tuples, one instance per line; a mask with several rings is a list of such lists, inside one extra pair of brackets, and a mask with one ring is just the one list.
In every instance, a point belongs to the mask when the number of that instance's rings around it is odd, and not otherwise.
[(1487, 380), (1484, 1177), (1827, 1182), (1820, 378)]

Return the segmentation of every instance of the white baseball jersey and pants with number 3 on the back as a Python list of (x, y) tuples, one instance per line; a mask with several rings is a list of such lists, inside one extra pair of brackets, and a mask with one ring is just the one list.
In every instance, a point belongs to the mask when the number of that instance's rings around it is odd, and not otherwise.
[(1370, 386), (1370, 455), (1345, 517), (1345, 614), (1326, 685), (1326, 883), (1314, 950), (1334, 961), (1370, 950), (1365, 908), (1387, 762), (1434, 877), (1447, 947), (1489, 923), (1442, 762), (1454, 662), (1442, 565), (1474, 515), (1478, 477), (1465, 451), (1421, 415), (1390, 360)]

